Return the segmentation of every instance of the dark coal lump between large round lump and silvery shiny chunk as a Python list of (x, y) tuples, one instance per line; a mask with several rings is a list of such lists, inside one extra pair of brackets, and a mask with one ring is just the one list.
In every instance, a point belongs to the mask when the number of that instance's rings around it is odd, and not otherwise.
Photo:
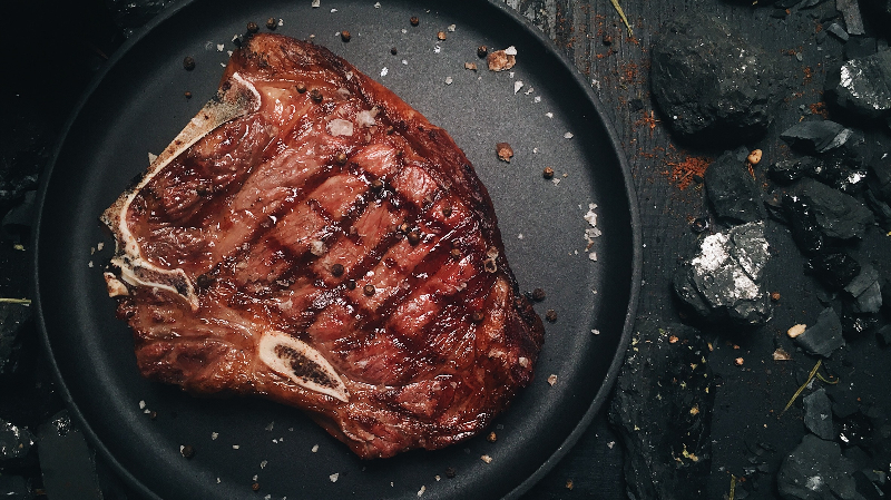
[[(747, 154), (747, 151), (743, 151)], [(705, 170), (705, 189), (718, 218), (753, 223), (767, 216), (761, 193), (740, 151), (725, 151)]]

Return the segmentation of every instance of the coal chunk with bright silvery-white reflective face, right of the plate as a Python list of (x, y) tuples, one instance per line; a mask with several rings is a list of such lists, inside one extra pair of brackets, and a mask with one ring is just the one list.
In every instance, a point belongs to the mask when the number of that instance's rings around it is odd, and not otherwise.
[(762, 325), (772, 312), (764, 280), (767, 249), (760, 222), (706, 236), (675, 275), (675, 293), (705, 321)]

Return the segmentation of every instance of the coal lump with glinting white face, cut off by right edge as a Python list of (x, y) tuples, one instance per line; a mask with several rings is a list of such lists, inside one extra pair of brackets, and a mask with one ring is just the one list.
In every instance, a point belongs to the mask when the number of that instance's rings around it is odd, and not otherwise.
[(891, 115), (891, 50), (828, 71), (823, 89), (831, 101), (864, 118)]

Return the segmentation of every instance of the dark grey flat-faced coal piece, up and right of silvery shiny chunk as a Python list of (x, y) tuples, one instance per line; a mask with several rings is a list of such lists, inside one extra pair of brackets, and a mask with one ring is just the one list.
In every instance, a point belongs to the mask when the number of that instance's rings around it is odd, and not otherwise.
[(856, 198), (816, 180), (805, 178), (797, 186), (797, 196), (807, 202), (824, 236), (836, 239), (862, 238), (875, 217)]

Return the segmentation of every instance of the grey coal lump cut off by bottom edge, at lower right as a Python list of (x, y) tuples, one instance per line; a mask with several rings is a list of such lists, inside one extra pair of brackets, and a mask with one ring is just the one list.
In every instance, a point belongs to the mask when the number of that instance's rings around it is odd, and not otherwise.
[(839, 443), (805, 434), (780, 465), (776, 484), (784, 500), (855, 499), (854, 464)]

